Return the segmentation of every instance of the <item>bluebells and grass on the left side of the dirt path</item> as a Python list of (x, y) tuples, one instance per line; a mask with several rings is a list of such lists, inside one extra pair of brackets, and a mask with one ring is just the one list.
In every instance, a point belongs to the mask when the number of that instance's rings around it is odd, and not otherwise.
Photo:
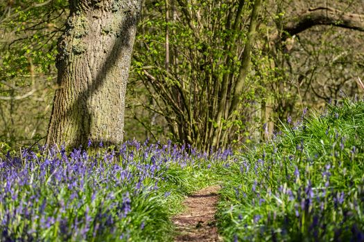
[(0, 240), (168, 241), (168, 216), (185, 194), (214, 183), (229, 153), (133, 141), (117, 152), (40, 147), (3, 155)]

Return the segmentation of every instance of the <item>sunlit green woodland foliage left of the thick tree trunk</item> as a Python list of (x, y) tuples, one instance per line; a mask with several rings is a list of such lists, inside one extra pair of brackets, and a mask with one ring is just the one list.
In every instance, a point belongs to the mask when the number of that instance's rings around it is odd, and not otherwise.
[(46, 133), (67, 1), (1, 1), (0, 12), (0, 139), (15, 147)]

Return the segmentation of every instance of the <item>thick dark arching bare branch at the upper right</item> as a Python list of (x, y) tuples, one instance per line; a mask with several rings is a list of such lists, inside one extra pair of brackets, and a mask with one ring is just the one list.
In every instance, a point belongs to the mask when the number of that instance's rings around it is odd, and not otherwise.
[(287, 37), (297, 35), (304, 30), (316, 25), (331, 25), (352, 30), (364, 31), (364, 15), (355, 13), (345, 13), (333, 8), (309, 8), (302, 12), (295, 19), (291, 19), (284, 26), (282, 40)]

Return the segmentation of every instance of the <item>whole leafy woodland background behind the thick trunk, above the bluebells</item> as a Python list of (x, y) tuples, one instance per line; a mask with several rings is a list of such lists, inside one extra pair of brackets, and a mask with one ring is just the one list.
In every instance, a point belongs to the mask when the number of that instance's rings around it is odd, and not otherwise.
[[(221, 147), (265, 140), (279, 120), (295, 120), (306, 106), (322, 109), (340, 95), (358, 94), (364, 32), (320, 25), (292, 37), (284, 26), (310, 8), (361, 14), (363, 1), (263, 1), (239, 111), (233, 120), (206, 117), (208, 106), (216, 116), (220, 109), (216, 93), (203, 90), (239, 75), (252, 3), (242, 6), (232, 0), (145, 1), (126, 94), (125, 140), (171, 139), (209, 149), (216, 142), (202, 142), (198, 133), (217, 126), (226, 134)], [(0, 12), (1, 145), (30, 145), (46, 136), (67, 3), (8, 0), (1, 1)], [(232, 101), (231, 86), (225, 91)]]

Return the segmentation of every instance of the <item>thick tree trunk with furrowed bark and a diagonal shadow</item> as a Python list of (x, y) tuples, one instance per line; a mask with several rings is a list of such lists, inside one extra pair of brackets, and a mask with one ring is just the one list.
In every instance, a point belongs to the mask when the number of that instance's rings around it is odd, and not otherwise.
[(141, 0), (69, 3), (46, 142), (117, 144), (123, 140), (125, 87)]

